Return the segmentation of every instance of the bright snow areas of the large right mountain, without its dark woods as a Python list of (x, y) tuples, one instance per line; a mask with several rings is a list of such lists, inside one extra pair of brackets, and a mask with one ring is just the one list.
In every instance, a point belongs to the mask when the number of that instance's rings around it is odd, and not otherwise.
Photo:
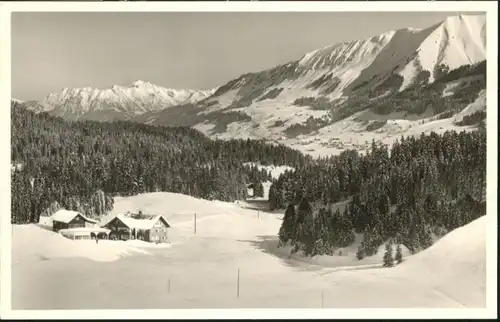
[[(485, 60), (485, 30), (484, 14), (457, 15), (425, 29), (405, 28), (389, 31), (379, 36), (314, 50), (299, 60), (300, 68), (297, 72), (300, 75), (297, 78), (286, 79), (266, 89), (265, 92), (282, 88), (276, 98), (254, 100), (250, 106), (234, 110), (249, 115), (251, 121), (230, 123), (224, 133), (213, 133), (214, 125), (207, 122), (194, 127), (208, 136), (220, 139), (265, 138), (313, 156), (339, 154), (347, 148), (363, 151), (368, 146), (367, 142), (371, 143), (372, 139), (391, 144), (402, 135), (412, 136), (422, 132), (456, 129), (469, 130), (470, 128), (457, 128), (454, 118), (436, 121), (429, 115), (424, 119), (412, 119), (401, 113), (390, 116), (377, 116), (372, 113), (368, 118), (366, 112), (360, 112), (323, 127), (315, 133), (296, 138), (286, 138), (284, 133), (289, 126), (303, 123), (309, 117), (322, 118), (329, 114), (329, 111), (293, 105), (293, 102), (300, 97), (324, 96), (318, 90), (306, 88), (320, 77), (331, 74), (340, 80), (338, 87), (326, 95), (330, 99), (339, 101), (351, 95), (354, 85), (369, 82), (369, 86), (373, 87), (384, 81), (391, 73), (403, 76), (403, 84), (399, 89), (403, 90), (412, 84), (422, 71), (429, 71), (431, 74), (429, 81), (433, 81), (434, 69), (440, 64), (447, 65), (451, 70)], [(443, 95), (450, 95), (455, 85), (466, 81), (461, 79), (448, 84)], [(236, 94), (237, 89), (232, 89), (221, 96), (210, 97), (211, 101), (217, 101), (218, 104), (211, 106), (209, 110), (225, 109), (240, 99)], [(484, 93), (482, 95), (485, 96)], [(466, 108), (463, 113), (483, 108), (481, 107), (485, 106), (483, 102), (485, 103), (485, 100), (479, 98), (475, 105)], [(360, 115), (364, 115), (364, 119), (368, 121), (386, 118), (388, 123), (376, 131), (366, 131), (366, 124), (360, 124), (355, 120)], [(460, 117), (462, 116), (460, 114)]]

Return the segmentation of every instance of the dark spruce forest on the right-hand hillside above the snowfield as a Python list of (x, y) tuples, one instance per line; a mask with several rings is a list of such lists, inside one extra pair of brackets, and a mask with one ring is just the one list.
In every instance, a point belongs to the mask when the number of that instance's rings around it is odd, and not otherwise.
[[(416, 252), (486, 212), (486, 132), (401, 138), (367, 155), (346, 151), (273, 182), (270, 206), (285, 208), (282, 243), (331, 254), (363, 233), (358, 258), (393, 239)], [(343, 210), (331, 205), (347, 201)]]

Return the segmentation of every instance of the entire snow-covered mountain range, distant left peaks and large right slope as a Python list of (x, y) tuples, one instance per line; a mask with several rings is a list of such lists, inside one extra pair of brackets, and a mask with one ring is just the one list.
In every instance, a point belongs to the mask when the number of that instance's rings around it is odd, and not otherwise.
[(390, 143), (460, 126), (485, 109), (485, 60), (486, 15), (459, 15), (330, 45), (210, 91), (136, 82), (65, 89), (28, 105), (72, 120), (192, 126), (211, 137), (265, 138), (336, 154), (372, 139)]

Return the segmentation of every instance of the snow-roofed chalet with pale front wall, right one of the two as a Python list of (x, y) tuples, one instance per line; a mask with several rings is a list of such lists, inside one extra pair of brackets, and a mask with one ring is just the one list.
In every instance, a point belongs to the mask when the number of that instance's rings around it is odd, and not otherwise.
[(103, 226), (110, 230), (110, 239), (139, 239), (147, 242), (167, 242), (170, 224), (158, 215), (117, 215)]

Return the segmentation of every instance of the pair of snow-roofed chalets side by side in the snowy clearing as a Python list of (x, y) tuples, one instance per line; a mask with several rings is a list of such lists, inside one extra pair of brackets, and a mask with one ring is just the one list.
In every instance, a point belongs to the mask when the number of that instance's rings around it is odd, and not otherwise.
[(142, 240), (151, 243), (165, 243), (170, 224), (162, 215), (125, 213), (113, 216), (105, 223), (66, 209), (60, 209), (51, 217), (52, 230), (74, 240), (99, 239)]

